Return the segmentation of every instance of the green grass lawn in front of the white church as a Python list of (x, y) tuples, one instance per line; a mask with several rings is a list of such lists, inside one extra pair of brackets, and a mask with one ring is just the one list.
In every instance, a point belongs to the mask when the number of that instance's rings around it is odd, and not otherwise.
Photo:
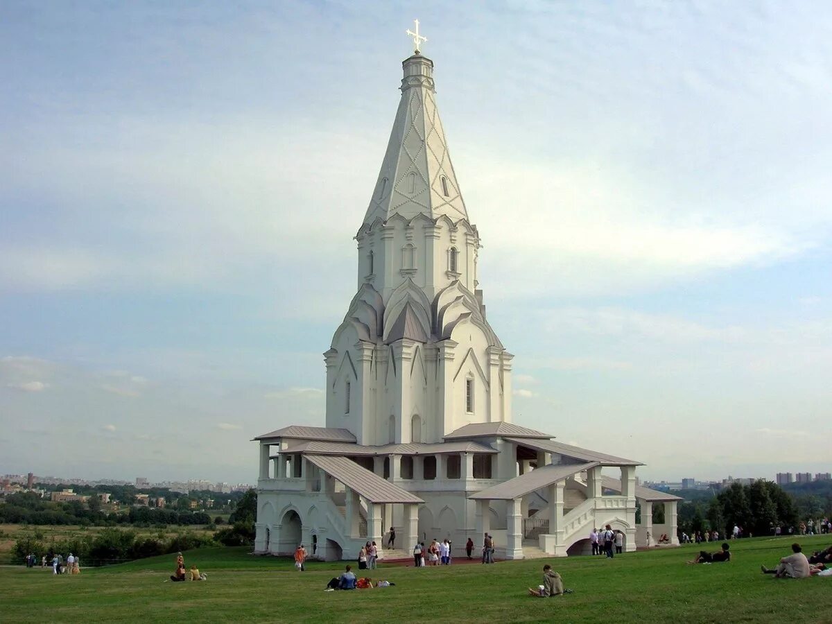
[[(800, 540), (805, 552), (830, 537)], [(790, 552), (788, 537), (731, 543), (734, 561), (688, 566), (694, 545), (618, 556), (537, 559), (493, 566), (379, 567), (396, 587), (324, 592), (344, 563), (253, 557), (245, 548), (186, 552), (207, 582), (164, 582), (173, 557), (55, 577), (40, 568), (0, 569), (2, 622), (832, 622), (832, 577), (776, 580), (760, 573)], [(717, 543), (707, 545), (716, 550)], [(574, 593), (542, 599), (544, 563)]]

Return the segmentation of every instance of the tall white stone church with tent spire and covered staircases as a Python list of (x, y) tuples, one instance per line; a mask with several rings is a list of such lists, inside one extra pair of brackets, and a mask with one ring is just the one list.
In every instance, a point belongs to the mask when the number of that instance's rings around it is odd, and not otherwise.
[[(324, 354), (326, 427), (255, 438), (255, 552), (303, 542), (312, 557), (354, 559), (374, 541), (379, 557), (408, 557), (434, 537), (456, 553), (472, 537), (479, 552), (488, 532), (498, 558), (566, 556), (588, 552), (592, 527), (606, 524), (626, 551), (665, 533), (677, 544), (679, 499), (639, 487), (641, 463), (512, 423), (514, 356), (485, 313), (479, 232), (420, 38), (355, 235), (357, 292)], [(653, 503), (662, 526), (651, 525)]]

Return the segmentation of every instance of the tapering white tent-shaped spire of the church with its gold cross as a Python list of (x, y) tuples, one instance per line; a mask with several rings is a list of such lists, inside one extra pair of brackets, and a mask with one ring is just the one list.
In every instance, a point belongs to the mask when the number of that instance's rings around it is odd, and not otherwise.
[(432, 219), (468, 219), (436, 107), (433, 61), (418, 52), (419, 43), (427, 39), (418, 35), (418, 26), (409, 34), (414, 35), (417, 52), (402, 62), (402, 98), (364, 215), (367, 225), (397, 214), (406, 219), (419, 213)]

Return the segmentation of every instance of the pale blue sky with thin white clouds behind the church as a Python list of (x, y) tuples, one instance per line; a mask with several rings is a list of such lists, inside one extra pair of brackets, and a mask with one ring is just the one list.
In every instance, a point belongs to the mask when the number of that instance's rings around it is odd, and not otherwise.
[(514, 422), (641, 478), (827, 472), (825, 2), (0, 3), (0, 473), (254, 483), (418, 17)]

